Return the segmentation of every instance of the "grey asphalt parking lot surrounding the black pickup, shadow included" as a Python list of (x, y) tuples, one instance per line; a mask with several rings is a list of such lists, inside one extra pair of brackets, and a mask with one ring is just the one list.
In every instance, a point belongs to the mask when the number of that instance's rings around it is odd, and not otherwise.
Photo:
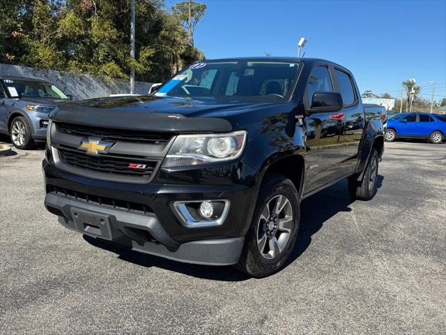
[(103, 249), (43, 207), (43, 150), (0, 158), (0, 334), (445, 334), (446, 144), (386, 144), (380, 189), (302, 203), (279, 274)]

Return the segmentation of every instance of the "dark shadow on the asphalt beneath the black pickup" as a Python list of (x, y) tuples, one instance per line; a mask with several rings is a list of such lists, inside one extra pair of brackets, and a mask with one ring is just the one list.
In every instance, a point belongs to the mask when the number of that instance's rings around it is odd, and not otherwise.
[[(384, 177), (378, 174), (378, 188), (383, 185), (383, 179)], [(328, 219), (340, 211), (351, 211), (351, 208), (348, 207), (351, 203), (352, 200), (350, 195), (348, 195), (346, 179), (302, 200), (298, 239), (286, 266), (289, 266), (307, 250), (308, 246), (312, 243), (312, 235), (323, 227), (325, 221), (328, 221)], [(169, 271), (180, 272), (187, 276), (213, 281), (246, 281), (250, 278), (232, 267), (186, 264), (121, 248), (120, 246), (115, 246), (114, 244), (109, 244), (106, 241), (94, 239), (87, 235), (84, 235), (84, 239), (93, 246), (118, 254), (120, 260), (132, 262), (143, 267), (159, 267)]]

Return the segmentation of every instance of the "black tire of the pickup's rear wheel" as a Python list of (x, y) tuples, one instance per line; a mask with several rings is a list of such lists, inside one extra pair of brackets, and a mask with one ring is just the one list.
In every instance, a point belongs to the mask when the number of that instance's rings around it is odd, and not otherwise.
[(357, 177), (348, 178), (348, 191), (353, 200), (367, 201), (374, 198), (378, 189), (376, 180), (378, 177), (378, 163), (378, 151), (373, 148), (362, 181), (358, 181)]

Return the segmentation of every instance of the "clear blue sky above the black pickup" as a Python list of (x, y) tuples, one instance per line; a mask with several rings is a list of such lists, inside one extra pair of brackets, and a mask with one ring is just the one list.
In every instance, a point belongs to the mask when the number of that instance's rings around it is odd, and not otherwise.
[(361, 92), (400, 96), (401, 82), (415, 78), (424, 98), (431, 98), (431, 80), (435, 99), (446, 97), (445, 0), (200, 2), (208, 8), (194, 40), (206, 58), (296, 56), (305, 36), (305, 57), (350, 69)]

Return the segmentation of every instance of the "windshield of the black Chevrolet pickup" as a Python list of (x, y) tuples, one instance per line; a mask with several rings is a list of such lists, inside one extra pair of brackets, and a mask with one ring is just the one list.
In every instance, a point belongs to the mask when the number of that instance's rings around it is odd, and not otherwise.
[(293, 91), (298, 62), (204, 61), (165, 82), (155, 96), (283, 101)]

